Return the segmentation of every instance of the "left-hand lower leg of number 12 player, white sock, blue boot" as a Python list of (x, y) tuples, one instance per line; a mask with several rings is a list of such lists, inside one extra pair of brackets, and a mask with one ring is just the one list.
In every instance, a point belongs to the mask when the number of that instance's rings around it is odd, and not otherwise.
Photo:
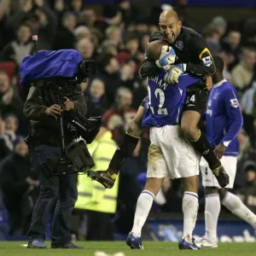
[(137, 207), (134, 215), (133, 227), (126, 238), (126, 244), (131, 249), (143, 249), (142, 229), (152, 207), (154, 196), (160, 190), (163, 178), (149, 177), (142, 194), (137, 199)]

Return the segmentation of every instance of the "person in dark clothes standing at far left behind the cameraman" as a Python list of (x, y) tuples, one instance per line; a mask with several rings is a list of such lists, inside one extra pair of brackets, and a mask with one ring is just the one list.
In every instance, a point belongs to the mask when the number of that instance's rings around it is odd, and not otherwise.
[[(0, 169), (0, 186), (3, 192), (3, 203), (9, 215), (9, 236), (23, 235), (29, 228), (32, 209), (37, 196), (38, 180), (31, 172), (27, 157), (26, 143), (21, 137), (15, 140), (15, 151), (2, 162)], [(35, 189), (33, 193), (28, 193)], [(23, 205), (26, 196), (31, 196), (32, 205)]]

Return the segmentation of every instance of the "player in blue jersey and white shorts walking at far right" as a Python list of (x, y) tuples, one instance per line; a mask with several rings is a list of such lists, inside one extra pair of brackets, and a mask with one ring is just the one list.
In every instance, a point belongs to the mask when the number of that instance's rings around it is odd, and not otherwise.
[(224, 61), (217, 56), (214, 56), (213, 59), (217, 71), (212, 77), (215, 85), (210, 92), (207, 104), (207, 139), (230, 176), (230, 183), (226, 188), (220, 188), (212, 172), (208, 172), (207, 162), (201, 160), (201, 175), (206, 195), (206, 234), (201, 240), (201, 247), (218, 247), (217, 224), (220, 202), (230, 212), (256, 229), (256, 215), (241, 202), (239, 197), (227, 190), (233, 189), (235, 182), (237, 155), (239, 153), (236, 135), (241, 130), (242, 116), (237, 92), (222, 74)]

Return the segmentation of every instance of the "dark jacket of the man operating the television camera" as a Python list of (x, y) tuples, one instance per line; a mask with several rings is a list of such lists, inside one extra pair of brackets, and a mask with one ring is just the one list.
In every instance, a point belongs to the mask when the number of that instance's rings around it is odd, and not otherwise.
[[(73, 95), (69, 100), (74, 102), (75, 107), (68, 112), (73, 114), (80, 113), (85, 116), (87, 105), (82, 90), (80, 90), (80, 94)], [(44, 113), (45, 109), (52, 106), (54, 102), (54, 95), (50, 90), (47, 90), (44, 86), (40, 88), (31, 86), (23, 108), (23, 113), (27, 119), (30, 119), (30, 135), (32, 136), (32, 142), (35, 146), (40, 144), (61, 146), (60, 121)], [(63, 126), (65, 142), (71, 143), (71, 133), (67, 131), (67, 125)]]

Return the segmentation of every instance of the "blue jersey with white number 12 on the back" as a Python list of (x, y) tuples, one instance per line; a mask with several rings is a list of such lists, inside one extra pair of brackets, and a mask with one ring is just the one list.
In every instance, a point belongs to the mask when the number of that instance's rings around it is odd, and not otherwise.
[(167, 84), (164, 81), (165, 73), (162, 68), (156, 75), (148, 77), (148, 97), (144, 106), (143, 126), (177, 125), (183, 111), (185, 88), (201, 80), (199, 77), (183, 73), (177, 84)]

